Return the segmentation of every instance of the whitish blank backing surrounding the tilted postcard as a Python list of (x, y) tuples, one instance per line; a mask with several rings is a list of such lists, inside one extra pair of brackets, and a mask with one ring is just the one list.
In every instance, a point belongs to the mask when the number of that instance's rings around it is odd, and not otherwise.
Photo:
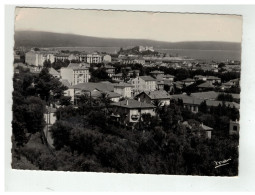
[[(45, 7), (45, 5), (42, 5)], [(40, 7), (36, 5), (33, 7)], [(47, 6), (46, 6), (47, 7)], [(254, 6), (50, 5), (89, 9), (200, 12), (243, 15), (239, 177), (17, 171), (10, 169), (14, 6), (5, 7), (5, 187), (7, 191), (249, 191), (254, 190)], [(3, 78), (3, 77), (2, 77)], [(253, 174), (253, 175), (252, 175)]]

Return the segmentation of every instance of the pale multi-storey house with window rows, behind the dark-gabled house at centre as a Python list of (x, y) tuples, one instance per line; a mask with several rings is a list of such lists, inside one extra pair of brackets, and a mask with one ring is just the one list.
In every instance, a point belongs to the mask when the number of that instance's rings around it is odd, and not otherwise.
[(131, 79), (131, 84), (134, 86), (134, 92), (156, 90), (156, 79), (151, 76), (136, 77)]

